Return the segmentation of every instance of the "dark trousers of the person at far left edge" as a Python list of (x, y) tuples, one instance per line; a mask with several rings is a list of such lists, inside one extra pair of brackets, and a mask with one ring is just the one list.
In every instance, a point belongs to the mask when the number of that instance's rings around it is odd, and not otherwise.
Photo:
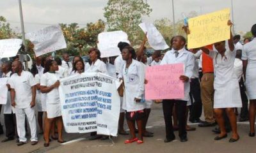
[(15, 113), (12, 114), (4, 114), (4, 122), (6, 128), (6, 137), (14, 138), (14, 136), (18, 136), (16, 132), (16, 117)]

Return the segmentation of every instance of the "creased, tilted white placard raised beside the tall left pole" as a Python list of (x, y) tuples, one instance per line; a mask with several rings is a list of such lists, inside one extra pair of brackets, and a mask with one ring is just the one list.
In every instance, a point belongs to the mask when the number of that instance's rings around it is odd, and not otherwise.
[(26, 38), (33, 43), (36, 57), (67, 48), (60, 25), (52, 25), (39, 31), (28, 33)]

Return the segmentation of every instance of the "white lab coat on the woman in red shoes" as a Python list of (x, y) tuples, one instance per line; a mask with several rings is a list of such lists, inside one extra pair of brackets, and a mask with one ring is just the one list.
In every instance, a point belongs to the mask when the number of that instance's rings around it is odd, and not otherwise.
[(144, 80), (145, 73), (143, 65), (140, 62), (132, 59), (129, 68), (122, 69), (122, 78), (124, 79), (124, 101), (122, 108), (127, 112), (143, 110), (144, 103), (136, 102), (134, 98), (142, 99), (145, 91)]

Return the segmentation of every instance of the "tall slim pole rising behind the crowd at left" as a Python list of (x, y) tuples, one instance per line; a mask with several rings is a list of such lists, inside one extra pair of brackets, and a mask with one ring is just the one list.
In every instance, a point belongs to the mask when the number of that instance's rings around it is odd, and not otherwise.
[[(24, 22), (23, 22), (21, 0), (19, 0), (19, 10), (20, 10), (20, 25), (21, 25), (21, 34), (22, 34), (22, 44), (25, 47), (25, 52), (24, 52), (25, 55), (23, 55), (24, 58), (22, 57), (21, 59), (24, 59), (25, 69), (26, 69), (26, 71), (28, 71), (28, 59), (27, 59), (27, 55), (26, 55), (27, 47), (26, 47), (26, 42), (25, 42), (25, 31), (24, 31)], [(20, 55), (22, 55), (22, 54), (20, 54)], [(23, 61), (21, 61), (21, 62), (23, 62)]]

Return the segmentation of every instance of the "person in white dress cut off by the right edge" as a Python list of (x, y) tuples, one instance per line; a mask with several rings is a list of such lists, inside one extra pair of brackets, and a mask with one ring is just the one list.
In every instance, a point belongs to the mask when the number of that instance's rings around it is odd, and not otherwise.
[(243, 47), (242, 60), (245, 86), (248, 91), (250, 133), (255, 136), (255, 111), (256, 111), (256, 24), (252, 26), (254, 39)]

